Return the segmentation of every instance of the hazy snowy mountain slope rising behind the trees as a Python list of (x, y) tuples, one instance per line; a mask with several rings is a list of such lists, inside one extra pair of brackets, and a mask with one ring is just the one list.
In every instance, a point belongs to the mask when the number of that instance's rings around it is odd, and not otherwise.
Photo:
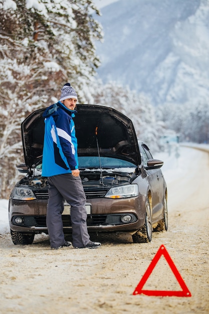
[(129, 85), (155, 105), (209, 101), (207, 0), (120, 0), (101, 13), (105, 83)]

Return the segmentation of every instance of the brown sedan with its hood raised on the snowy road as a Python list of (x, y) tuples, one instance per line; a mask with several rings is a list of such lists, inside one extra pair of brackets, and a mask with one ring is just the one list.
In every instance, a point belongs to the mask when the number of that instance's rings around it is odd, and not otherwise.
[[(163, 162), (153, 159), (137, 139), (132, 121), (107, 106), (78, 104), (74, 118), (80, 177), (86, 194), (89, 233), (129, 232), (134, 243), (150, 242), (152, 231), (168, 228), (167, 186)], [(32, 244), (35, 234), (48, 234), (48, 183), (42, 177), (46, 108), (21, 124), (24, 176), (9, 199), (9, 224), (15, 245)], [(72, 233), (70, 205), (62, 213), (65, 234)]]

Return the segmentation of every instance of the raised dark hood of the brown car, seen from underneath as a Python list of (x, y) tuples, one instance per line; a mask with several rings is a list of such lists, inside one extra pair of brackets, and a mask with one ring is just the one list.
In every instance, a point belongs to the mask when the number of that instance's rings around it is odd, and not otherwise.
[[(42, 108), (31, 113), (21, 124), (25, 163), (35, 167), (42, 160), (44, 143), (44, 118)], [(79, 156), (119, 158), (141, 164), (140, 152), (132, 121), (119, 111), (99, 105), (76, 106), (73, 118), (78, 139)]]

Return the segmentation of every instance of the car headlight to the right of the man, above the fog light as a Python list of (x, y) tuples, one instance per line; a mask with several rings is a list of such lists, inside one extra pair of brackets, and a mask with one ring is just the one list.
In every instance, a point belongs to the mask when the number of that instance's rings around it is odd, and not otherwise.
[(127, 197), (134, 197), (139, 195), (139, 189), (137, 184), (129, 184), (125, 186), (118, 186), (111, 188), (105, 197), (110, 199), (121, 199)]

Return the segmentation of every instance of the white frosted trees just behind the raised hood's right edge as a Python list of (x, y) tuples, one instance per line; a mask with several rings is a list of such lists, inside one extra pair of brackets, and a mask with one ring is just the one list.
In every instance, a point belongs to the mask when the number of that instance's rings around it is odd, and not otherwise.
[(89, 103), (122, 112), (132, 120), (138, 139), (144, 141), (152, 151), (159, 149), (158, 139), (163, 133), (163, 124), (156, 120), (154, 107), (144, 95), (116, 82), (103, 85), (101, 80), (92, 83), (90, 90), (92, 97)]

